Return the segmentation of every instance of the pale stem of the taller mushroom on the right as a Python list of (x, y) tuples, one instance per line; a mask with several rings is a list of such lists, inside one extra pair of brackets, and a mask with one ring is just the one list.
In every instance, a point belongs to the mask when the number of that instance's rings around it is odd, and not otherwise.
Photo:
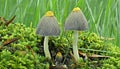
[(74, 57), (76, 60), (79, 59), (77, 42), (78, 42), (78, 31), (74, 31), (74, 33), (73, 33), (73, 53), (74, 53)]

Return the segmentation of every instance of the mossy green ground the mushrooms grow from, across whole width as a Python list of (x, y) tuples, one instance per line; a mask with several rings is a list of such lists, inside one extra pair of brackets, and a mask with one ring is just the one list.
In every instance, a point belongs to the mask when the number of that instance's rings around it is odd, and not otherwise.
[[(101, 39), (95, 33), (80, 32), (78, 47), (84, 54), (110, 56), (110, 58), (81, 57), (76, 64), (70, 54), (72, 52), (72, 32), (61, 33), (58, 37), (50, 37), (49, 49), (52, 60), (47, 61), (43, 52), (44, 37), (35, 34), (35, 28), (16, 23), (5, 26), (0, 24), (0, 68), (11, 69), (48, 69), (55, 64), (58, 51), (63, 54), (62, 64), (68, 68), (81, 69), (120, 69), (120, 48), (114, 46), (110, 40)], [(6, 40), (19, 38), (5, 44)]]

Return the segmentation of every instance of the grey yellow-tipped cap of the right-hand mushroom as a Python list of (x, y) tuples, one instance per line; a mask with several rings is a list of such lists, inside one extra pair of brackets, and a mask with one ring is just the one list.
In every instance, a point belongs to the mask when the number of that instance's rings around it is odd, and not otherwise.
[(74, 8), (65, 21), (65, 30), (87, 30), (88, 22), (79, 7)]

